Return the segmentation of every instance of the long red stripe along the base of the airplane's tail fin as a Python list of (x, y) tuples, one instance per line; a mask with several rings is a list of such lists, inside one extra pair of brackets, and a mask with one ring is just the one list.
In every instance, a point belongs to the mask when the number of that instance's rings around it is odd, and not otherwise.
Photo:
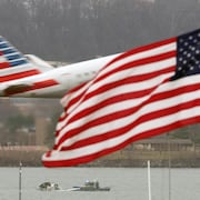
[(17, 72), (17, 73), (13, 73), (13, 74), (1, 76), (0, 77), (0, 82), (17, 80), (17, 79), (26, 78), (26, 77), (36, 76), (36, 74), (39, 74), (39, 73), (40, 73), (40, 71), (34, 69), (34, 70), (23, 71), (23, 72)]

